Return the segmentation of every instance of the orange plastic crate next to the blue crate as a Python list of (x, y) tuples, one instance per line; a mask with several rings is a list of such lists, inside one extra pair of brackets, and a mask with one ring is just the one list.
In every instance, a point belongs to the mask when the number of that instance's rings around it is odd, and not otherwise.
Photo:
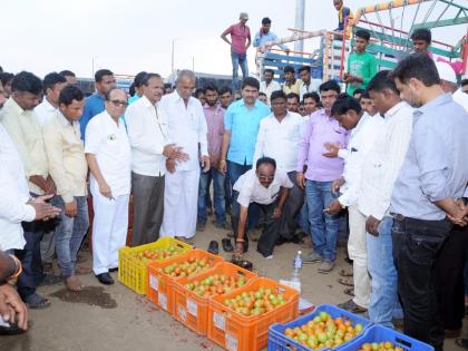
[[(260, 287), (271, 289), (284, 295), (285, 303), (261, 315), (245, 316), (223, 304), (242, 292)], [(208, 338), (230, 351), (256, 351), (266, 347), (271, 324), (285, 323), (299, 314), (299, 292), (276, 281), (260, 277), (236, 292), (216, 296), (209, 301)]]

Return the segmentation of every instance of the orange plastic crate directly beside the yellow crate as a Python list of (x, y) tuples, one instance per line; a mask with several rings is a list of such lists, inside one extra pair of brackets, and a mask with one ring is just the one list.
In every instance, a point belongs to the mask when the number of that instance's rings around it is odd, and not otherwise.
[(156, 261), (148, 264), (148, 283), (146, 298), (162, 306), (170, 314), (174, 314), (174, 282), (183, 277), (172, 277), (164, 272), (158, 272), (158, 269), (165, 269), (173, 263), (184, 263), (189, 259), (205, 259), (206, 262), (211, 265), (209, 269), (203, 272), (198, 272), (197, 274), (192, 274), (189, 277), (197, 276), (201, 273), (212, 270), (217, 263), (224, 261), (223, 257), (199, 248), (195, 248), (177, 257), (169, 259), (164, 262)]

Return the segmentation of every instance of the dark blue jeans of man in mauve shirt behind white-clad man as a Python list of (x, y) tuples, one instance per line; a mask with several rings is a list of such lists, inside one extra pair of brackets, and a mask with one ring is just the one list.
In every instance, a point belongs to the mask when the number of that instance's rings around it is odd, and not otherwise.
[(198, 222), (206, 223), (206, 193), (208, 189), (209, 177), (213, 178), (213, 203), (214, 212), (216, 215), (216, 224), (226, 222), (226, 208), (224, 202), (224, 175), (212, 167), (208, 172), (201, 170), (199, 185), (198, 185)]

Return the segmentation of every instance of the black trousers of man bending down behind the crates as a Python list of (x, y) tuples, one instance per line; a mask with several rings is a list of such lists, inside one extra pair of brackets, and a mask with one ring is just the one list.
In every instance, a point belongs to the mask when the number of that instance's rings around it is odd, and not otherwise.
[[(241, 205), (237, 203), (238, 192), (234, 191), (234, 198), (232, 204), (232, 226), (234, 231), (234, 237), (237, 238), (237, 228), (238, 228), (238, 216)], [(256, 246), (256, 251), (259, 251), (264, 257), (267, 257), (273, 254), (274, 246), (276, 245), (276, 240), (280, 235), (280, 227), (281, 227), (281, 217), (273, 218), (274, 208), (277, 206), (277, 199), (270, 204), (270, 205), (262, 205), (257, 203), (251, 203), (248, 205), (248, 214), (247, 214), (247, 224), (245, 228), (245, 233), (248, 230), (253, 228), (256, 223), (259, 222), (260, 215), (263, 214), (265, 217), (265, 226), (263, 228), (262, 235), (259, 238), (259, 243)], [(245, 235), (244, 240), (247, 241), (247, 235)]]

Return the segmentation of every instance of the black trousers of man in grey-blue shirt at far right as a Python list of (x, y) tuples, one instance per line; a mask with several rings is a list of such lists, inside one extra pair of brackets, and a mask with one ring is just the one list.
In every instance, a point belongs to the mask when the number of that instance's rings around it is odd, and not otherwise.
[(393, 260), (404, 313), (404, 333), (443, 349), (443, 324), (437, 300), (437, 257), (451, 224), (413, 218), (393, 220)]

